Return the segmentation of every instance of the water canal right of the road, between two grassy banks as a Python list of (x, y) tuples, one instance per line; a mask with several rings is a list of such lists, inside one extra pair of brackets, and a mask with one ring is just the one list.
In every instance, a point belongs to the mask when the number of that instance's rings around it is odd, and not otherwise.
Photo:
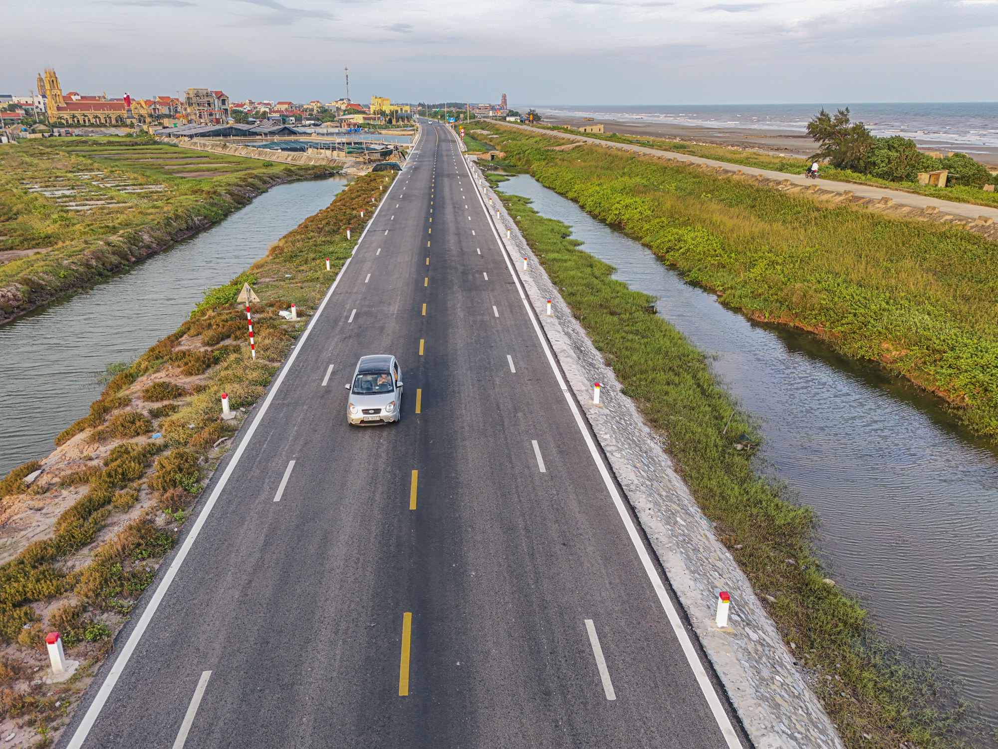
[(571, 226), (584, 250), (658, 297), (659, 314), (716, 358), (720, 381), (761, 419), (759, 469), (817, 512), (838, 584), (911, 652), (941, 658), (998, 724), (998, 448), (908, 380), (726, 309), (533, 178), (500, 189)]

